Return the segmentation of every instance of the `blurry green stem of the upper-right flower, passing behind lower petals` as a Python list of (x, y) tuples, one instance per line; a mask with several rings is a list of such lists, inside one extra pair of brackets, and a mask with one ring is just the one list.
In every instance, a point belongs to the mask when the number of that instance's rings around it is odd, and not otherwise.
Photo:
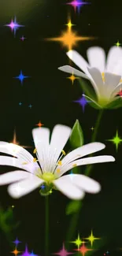
[[(96, 124), (95, 124), (95, 127), (94, 127), (94, 133), (91, 137), (91, 142), (93, 143), (97, 137), (97, 134), (98, 134), (98, 127), (99, 127), (99, 124), (100, 124), (100, 121), (102, 119), (102, 113), (103, 113), (103, 110), (100, 110), (99, 114), (98, 114), (98, 119), (96, 121)], [(92, 169), (93, 165), (90, 165), (89, 168), (87, 168), (86, 172), (85, 172), (85, 175), (89, 175), (91, 173), (91, 169)], [(83, 201), (81, 200), (80, 202), (80, 206), (79, 206), (79, 210), (77, 211), (77, 213), (74, 213), (72, 215), (72, 220), (71, 220), (71, 224), (69, 225), (69, 228), (68, 228), (68, 234), (67, 234), (67, 238), (66, 240), (68, 242), (71, 241), (72, 239), (72, 236), (74, 236), (75, 232), (76, 232), (76, 225), (78, 223), (78, 220), (79, 220), (79, 213), (80, 213), (80, 210), (83, 206)], [(69, 250), (69, 249), (68, 249)]]

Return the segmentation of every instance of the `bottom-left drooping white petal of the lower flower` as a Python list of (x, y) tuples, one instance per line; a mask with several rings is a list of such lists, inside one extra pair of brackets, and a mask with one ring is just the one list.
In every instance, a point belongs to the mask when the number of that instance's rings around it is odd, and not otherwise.
[(39, 185), (43, 184), (43, 182), (44, 181), (42, 179), (30, 174), (30, 178), (21, 180), (16, 184), (9, 185), (8, 192), (13, 198), (20, 198), (27, 195), (31, 191), (34, 191), (35, 188), (39, 187)]

